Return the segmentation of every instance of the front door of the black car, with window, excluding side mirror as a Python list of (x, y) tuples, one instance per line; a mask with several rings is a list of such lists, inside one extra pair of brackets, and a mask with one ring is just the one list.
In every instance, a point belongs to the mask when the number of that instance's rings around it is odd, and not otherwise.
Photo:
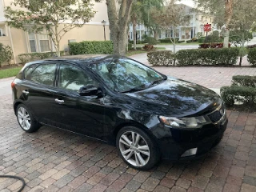
[(55, 93), (56, 118), (59, 126), (79, 134), (103, 140), (103, 98), (80, 96), (82, 86), (98, 83), (85, 70), (70, 63), (58, 63), (58, 92)]

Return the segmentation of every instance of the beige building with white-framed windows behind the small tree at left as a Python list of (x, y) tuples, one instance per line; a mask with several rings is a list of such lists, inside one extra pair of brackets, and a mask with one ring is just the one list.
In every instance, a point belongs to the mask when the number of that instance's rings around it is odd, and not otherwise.
[[(4, 10), (13, 0), (0, 0), (0, 43), (10, 46), (14, 53), (14, 63), (19, 63), (18, 54), (54, 51), (53, 42), (46, 34), (28, 34), (26, 31), (6, 25)], [(12, 6), (14, 7), (14, 6)], [(18, 7), (15, 7), (18, 9)], [(106, 21), (106, 40), (110, 39), (106, 3), (94, 3), (96, 14), (81, 28), (74, 28), (65, 34), (60, 43), (61, 50), (68, 49), (68, 42), (104, 41), (102, 20)]]

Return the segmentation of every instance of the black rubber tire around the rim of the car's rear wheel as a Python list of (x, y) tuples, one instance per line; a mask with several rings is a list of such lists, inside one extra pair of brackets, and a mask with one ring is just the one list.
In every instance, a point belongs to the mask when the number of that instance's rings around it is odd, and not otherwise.
[[(22, 110), (22, 108), (24, 108), (26, 110), (26, 114), (29, 115), (30, 118), (30, 127), (26, 127), (26, 129), (22, 126), (21, 122), (19, 121), (18, 118), (18, 111)], [(26, 131), (27, 133), (33, 133), (35, 131), (37, 131), (40, 128), (40, 124), (36, 121), (36, 119), (34, 118), (33, 114), (30, 112), (30, 110), (24, 105), (24, 104), (19, 104), (16, 108), (16, 117), (18, 120), (18, 124), (19, 126), (21, 126), (22, 130)]]

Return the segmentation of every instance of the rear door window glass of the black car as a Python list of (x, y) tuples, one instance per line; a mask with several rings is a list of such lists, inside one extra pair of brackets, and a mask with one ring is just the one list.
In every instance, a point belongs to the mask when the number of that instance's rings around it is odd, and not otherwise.
[(26, 80), (38, 82), (46, 86), (54, 86), (56, 64), (41, 64), (30, 74), (26, 75)]

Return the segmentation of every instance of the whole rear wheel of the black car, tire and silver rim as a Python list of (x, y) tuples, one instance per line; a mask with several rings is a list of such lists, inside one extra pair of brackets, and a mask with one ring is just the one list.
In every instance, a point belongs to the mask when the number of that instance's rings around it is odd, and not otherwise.
[(28, 110), (25, 105), (19, 104), (17, 106), (16, 115), (18, 124), (22, 127), (22, 130), (25, 130), (28, 133), (32, 133), (39, 129), (40, 124), (35, 120), (35, 118), (30, 113), (30, 110)]

